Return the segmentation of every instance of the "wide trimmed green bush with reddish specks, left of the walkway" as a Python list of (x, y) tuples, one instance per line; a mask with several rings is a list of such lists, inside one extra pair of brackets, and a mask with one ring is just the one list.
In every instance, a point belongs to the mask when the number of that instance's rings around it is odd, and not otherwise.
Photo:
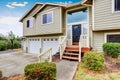
[(56, 65), (51, 62), (29, 64), (25, 67), (26, 80), (54, 80)]

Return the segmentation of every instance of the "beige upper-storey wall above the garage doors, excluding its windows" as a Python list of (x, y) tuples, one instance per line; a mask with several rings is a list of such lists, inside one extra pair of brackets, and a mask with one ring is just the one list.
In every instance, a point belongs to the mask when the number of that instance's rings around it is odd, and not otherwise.
[[(54, 6), (46, 6), (41, 10), (36, 17), (34, 17), (33, 27), (27, 28), (26, 21), (33, 18), (33, 14), (40, 8), (37, 6), (29, 15), (23, 20), (23, 36), (44, 35), (62, 33), (62, 8)], [(53, 11), (53, 23), (42, 24), (42, 14)]]

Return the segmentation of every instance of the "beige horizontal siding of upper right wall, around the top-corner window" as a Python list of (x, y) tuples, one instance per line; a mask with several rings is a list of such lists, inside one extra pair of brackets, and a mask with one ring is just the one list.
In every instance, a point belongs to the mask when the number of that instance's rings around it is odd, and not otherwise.
[(120, 13), (112, 12), (112, 0), (94, 0), (94, 30), (120, 29)]

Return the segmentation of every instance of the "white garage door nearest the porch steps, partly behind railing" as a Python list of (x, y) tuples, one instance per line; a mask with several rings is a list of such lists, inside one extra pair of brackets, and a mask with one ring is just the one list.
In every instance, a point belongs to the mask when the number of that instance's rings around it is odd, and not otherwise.
[(52, 53), (56, 54), (58, 52), (58, 38), (44, 38), (43, 39), (43, 51), (52, 47)]

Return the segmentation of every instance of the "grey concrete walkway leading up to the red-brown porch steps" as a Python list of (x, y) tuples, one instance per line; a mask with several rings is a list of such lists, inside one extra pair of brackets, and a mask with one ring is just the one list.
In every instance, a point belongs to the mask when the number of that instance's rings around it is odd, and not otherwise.
[(78, 62), (62, 60), (57, 64), (57, 80), (72, 80)]

